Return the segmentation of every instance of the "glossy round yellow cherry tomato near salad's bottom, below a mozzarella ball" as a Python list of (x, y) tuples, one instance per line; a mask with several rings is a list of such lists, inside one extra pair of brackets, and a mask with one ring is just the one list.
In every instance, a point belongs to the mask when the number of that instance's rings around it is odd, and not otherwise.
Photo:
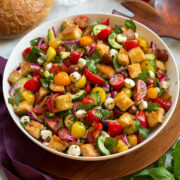
[(76, 121), (71, 128), (71, 135), (75, 138), (82, 138), (86, 133), (86, 127), (85, 125), (80, 122)]

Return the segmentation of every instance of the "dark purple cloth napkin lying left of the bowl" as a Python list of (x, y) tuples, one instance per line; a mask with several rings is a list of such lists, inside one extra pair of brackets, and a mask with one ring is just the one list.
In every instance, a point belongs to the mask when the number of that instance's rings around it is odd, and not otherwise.
[(10, 180), (62, 180), (40, 171), (41, 161), (49, 152), (29, 140), (8, 113), (2, 92), (6, 61), (0, 56), (0, 165)]

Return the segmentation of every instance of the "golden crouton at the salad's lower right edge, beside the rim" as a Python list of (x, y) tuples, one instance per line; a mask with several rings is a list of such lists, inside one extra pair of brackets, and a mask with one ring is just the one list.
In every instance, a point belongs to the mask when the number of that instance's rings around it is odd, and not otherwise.
[(150, 127), (155, 127), (158, 124), (161, 124), (164, 121), (164, 109), (158, 108), (157, 111), (146, 113), (148, 124)]

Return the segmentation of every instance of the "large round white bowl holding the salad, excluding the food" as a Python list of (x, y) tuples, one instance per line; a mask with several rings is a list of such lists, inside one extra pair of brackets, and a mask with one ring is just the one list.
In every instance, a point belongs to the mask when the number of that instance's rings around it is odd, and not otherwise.
[[(79, 15), (79, 14), (78, 14)], [(78, 16), (78, 15), (73, 15), (73, 16), (68, 16), (68, 17), (60, 17), (57, 19), (54, 19), (52, 21), (49, 21), (39, 27), (37, 27), (36, 29), (34, 29), (33, 31), (31, 31), (30, 33), (28, 33), (26, 36), (24, 36), (21, 41), (16, 45), (16, 47), (14, 48), (14, 50), (12, 51), (9, 60), (6, 64), (5, 67), (5, 71), (4, 71), (4, 76), (3, 76), (3, 93), (4, 93), (4, 98), (5, 98), (5, 102), (6, 102), (6, 106), (9, 110), (9, 113), (11, 114), (12, 119), (14, 120), (14, 122), (16, 123), (16, 125), (21, 129), (21, 131), (29, 138), (31, 139), (33, 142), (35, 142), (37, 145), (39, 145), (40, 147), (42, 147), (43, 149), (46, 149), (49, 152), (52, 152), (54, 154), (57, 154), (59, 156), (63, 156), (66, 158), (70, 158), (70, 159), (76, 159), (76, 160), (82, 160), (82, 161), (97, 161), (97, 160), (106, 160), (106, 159), (112, 159), (115, 157), (119, 157), (125, 154), (128, 154), (136, 149), (141, 148), (142, 146), (144, 146), (146, 143), (148, 143), (150, 140), (152, 140), (155, 136), (158, 135), (158, 133), (166, 126), (167, 122), (169, 121), (169, 119), (172, 116), (172, 113), (176, 107), (177, 104), (177, 100), (178, 100), (178, 95), (179, 95), (179, 73), (178, 73), (178, 68), (176, 65), (176, 62), (174, 60), (174, 57), (172, 55), (172, 53), (170, 52), (169, 48), (167, 47), (167, 45), (159, 38), (159, 36), (154, 33), (153, 31), (151, 31), (149, 28), (147, 28), (146, 26), (144, 26), (143, 24), (136, 22), (136, 27), (137, 27), (137, 32), (139, 33), (140, 37), (144, 37), (148, 40), (148, 42), (153, 41), (154, 43), (156, 43), (158, 48), (161, 49), (166, 49), (168, 51), (169, 54), (169, 60), (167, 62), (167, 74), (168, 77), (170, 78), (170, 89), (169, 92), (172, 95), (172, 107), (171, 109), (168, 111), (168, 113), (166, 114), (166, 120), (165, 122), (160, 125), (157, 129), (155, 129), (152, 133), (149, 134), (148, 138), (138, 144), (137, 146), (121, 152), (121, 153), (117, 153), (117, 154), (112, 154), (109, 156), (99, 156), (99, 157), (75, 157), (75, 156), (71, 156), (65, 153), (61, 153), (58, 151), (55, 151), (53, 149), (50, 149), (44, 145), (41, 144), (41, 142), (39, 142), (38, 140), (36, 140), (35, 138), (33, 138), (21, 125), (19, 122), (19, 118), (18, 116), (14, 113), (13, 108), (10, 104), (8, 104), (8, 98), (9, 98), (9, 94), (8, 91), (10, 89), (10, 85), (8, 83), (8, 76), (9, 74), (16, 68), (19, 66), (19, 63), (23, 60), (22, 59), (22, 51), (28, 47), (29, 41), (31, 39), (34, 39), (36, 37), (42, 37), (44, 35), (47, 35), (47, 30), (49, 28), (51, 28), (52, 26), (55, 27), (56, 30), (59, 29), (60, 24), (63, 20), (66, 19), (74, 19), (74, 17)], [(123, 24), (124, 21), (127, 19), (125, 17), (122, 16), (116, 16), (116, 15), (111, 15), (111, 14), (83, 14), (85, 16), (88, 16), (91, 20), (91, 22), (97, 21), (97, 20), (102, 20), (105, 17), (109, 17), (110, 19), (110, 24), (114, 25), (114, 24)]]

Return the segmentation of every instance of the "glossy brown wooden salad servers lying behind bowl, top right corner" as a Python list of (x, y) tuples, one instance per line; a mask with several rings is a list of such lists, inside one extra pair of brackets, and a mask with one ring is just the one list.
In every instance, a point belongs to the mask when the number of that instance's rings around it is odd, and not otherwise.
[[(132, 19), (148, 26), (159, 36), (180, 39), (179, 0), (154, 0), (152, 6), (139, 0), (127, 0), (121, 4), (134, 13)], [(113, 14), (124, 16), (118, 10), (113, 10)]]

